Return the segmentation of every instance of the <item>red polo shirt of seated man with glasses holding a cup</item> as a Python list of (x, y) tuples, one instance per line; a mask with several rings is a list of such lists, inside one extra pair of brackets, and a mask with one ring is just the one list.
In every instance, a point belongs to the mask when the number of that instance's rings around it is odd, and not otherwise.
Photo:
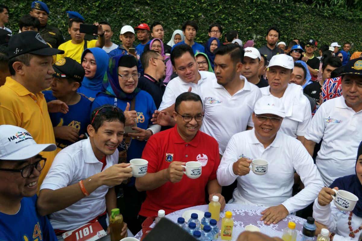
[(201, 131), (194, 139), (185, 142), (177, 132), (177, 126), (152, 135), (142, 152), (142, 159), (148, 160), (147, 172), (156, 173), (168, 168), (172, 161), (198, 161), (202, 164), (201, 176), (191, 179), (184, 175), (180, 182), (166, 182), (151, 191), (147, 191), (139, 215), (154, 216), (158, 210), (171, 212), (205, 203), (207, 182), (216, 179), (216, 170), (220, 164), (219, 144)]

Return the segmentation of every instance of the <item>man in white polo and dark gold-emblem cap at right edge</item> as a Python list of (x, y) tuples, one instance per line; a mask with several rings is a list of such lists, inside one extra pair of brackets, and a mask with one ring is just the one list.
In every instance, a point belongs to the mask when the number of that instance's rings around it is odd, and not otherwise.
[(324, 185), (355, 173), (356, 150), (362, 138), (362, 58), (350, 60), (342, 73), (342, 96), (327, 100), (315, 113), (305, 135), (304, 146), (316, 157)]

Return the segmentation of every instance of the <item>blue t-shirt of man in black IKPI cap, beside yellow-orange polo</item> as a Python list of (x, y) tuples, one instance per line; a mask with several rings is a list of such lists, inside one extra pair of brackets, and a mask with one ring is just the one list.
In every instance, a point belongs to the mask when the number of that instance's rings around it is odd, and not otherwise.
[[(56, 100), (53, 96), (51, 90), (43, 91), (46, 102), (51, 100)], [(79, 135), (87, 132), (87, 126), (90, 123), (90, 108), (92, 107), (92, 102), (85, 98), (84, 96), (80, 96), (80, 100), (78, 103), (68, 106), (69, 111), (66, 114), (61, 112), (49, 113), (51, 123), (54, 126), (72, 126), (76, 129)], [(79, 140), (78, 140), (79, 141)], [(71, 144), (70, 141), (55, 138), (56, 146), (60, 149), (63, 149)]]

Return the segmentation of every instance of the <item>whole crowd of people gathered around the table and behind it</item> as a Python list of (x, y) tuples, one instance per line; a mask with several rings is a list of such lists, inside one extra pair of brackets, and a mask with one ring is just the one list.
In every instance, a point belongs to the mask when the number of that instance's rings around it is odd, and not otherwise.
[[(267, 225), (309, 206), (316, 234), (358, 240), (362, 53), (349, 42), (281, 42), (270, 27), (257, 49), (214, 23), (197, 43), (194, 21), (167, 41), (156, 21), (123, 26), (117, 45), (108, 22), (82, 33), (85, 19), (68, 11), (64, 38), (45, 3), (29, 7), (12, 33), (0, 5), (0, 240), (63, 240), (96, 221), (109, 233), (117, 207), (132, 236), (158, 210), (214, 195), (221, 211), (265, 207)], [(148, 170), (136, 178), (137, 158)], [(268, 161), (265, 175), (254, 159)], [(184, 175), (189, 161), (199, 178)], [(361, 200), (340, 211), (332, 189)]]

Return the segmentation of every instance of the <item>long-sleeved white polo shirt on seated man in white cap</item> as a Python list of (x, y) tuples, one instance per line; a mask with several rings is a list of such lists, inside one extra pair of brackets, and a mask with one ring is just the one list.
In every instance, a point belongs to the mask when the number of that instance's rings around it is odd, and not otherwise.
[[(261, 176), (252, 171), (245, 176), (235, 175), (232, 164), (242, 157), (267, 160), (268, 172)], [(299, 174), (305, 188), (292, 197), (294, 171)], [(280, 131), (265, 149), (256, 138), (255, 129), (233, 135), (221, 159), (217, 178), (222, 186), (237, 180), (237, 189), (233, 193), (236, 203), (244, 198), (254, 205), (282, 204), (289, 213), (308, 206), (323, 188), (317, 167), (302, 143)]]

